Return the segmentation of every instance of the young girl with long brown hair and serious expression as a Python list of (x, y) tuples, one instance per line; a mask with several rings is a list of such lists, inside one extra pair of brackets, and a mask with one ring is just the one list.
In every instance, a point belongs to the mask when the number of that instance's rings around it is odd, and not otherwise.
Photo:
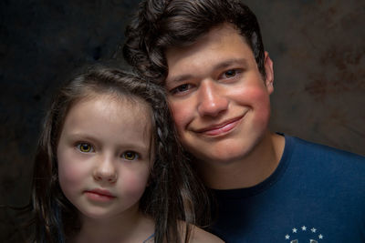
[(205, 202), (160, 87), (94, 66), (61, 88), (36, 151), (33, 242), (222, 242), (190, 227)]

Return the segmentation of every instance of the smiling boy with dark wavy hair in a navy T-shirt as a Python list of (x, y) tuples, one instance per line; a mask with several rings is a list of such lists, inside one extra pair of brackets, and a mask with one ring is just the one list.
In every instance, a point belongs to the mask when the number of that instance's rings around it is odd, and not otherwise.
[(143, 1), (124, 56), (165, 86), (226, 242), (363, 242), (365, 159), (268, 129), (273, 63), (236, 0)]

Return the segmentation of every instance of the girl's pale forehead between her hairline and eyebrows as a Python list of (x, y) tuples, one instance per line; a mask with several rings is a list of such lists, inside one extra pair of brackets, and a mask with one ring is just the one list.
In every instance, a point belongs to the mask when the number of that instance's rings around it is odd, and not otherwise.
[(116, 133), (124, 131), (124, 134), (126, 129), (138, 130), (141, 137), (150, 137), (151, 127), (151, 107), (142, 99), (133, 96), (96, 95), (82, 98), (70, 107), (64, 128), (89, 129), (88, 132), (92, 133), (102, 129), (115, 129)]

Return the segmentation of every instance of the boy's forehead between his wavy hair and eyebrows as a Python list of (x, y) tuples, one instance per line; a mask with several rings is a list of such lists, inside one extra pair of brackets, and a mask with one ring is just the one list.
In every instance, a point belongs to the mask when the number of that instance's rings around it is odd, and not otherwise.
[(255, 63), (245, 37), (229, 24), (211, 29), (190, 46), (168, 48), (165, 56), (169, 69), (166, 83), (189, 79), (187, 76), (198, 75), (203, 70)]

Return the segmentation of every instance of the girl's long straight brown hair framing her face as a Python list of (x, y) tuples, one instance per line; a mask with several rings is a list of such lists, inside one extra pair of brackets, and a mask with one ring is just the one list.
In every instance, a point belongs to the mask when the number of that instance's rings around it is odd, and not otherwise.
[[(115, 68), (92, 66), (72, 78), (55, 96), (47, 112), (36, 150), (31, 223), (35, 225), (33, 242), (65, 242), (78, 232), (78, 210), (64, 196), (58, 183), (57, 144), (68, 110), (85, 96), (110, 94), (150, 106), (151, 149), (155, 161), (151, 184), (140, 200), (142, 212), (155, 220), (154, 242), (183, 242), (189, 227), (181, 229), (178, 220), (194, 223), (195, 212), (205, 211), (203, 185), (195, 177), (182, 147), (176, 139), (172, 116), (160, 86), (142, 81), (141, 76)], [(188, 230), (180, 238), (182, 230)]]

